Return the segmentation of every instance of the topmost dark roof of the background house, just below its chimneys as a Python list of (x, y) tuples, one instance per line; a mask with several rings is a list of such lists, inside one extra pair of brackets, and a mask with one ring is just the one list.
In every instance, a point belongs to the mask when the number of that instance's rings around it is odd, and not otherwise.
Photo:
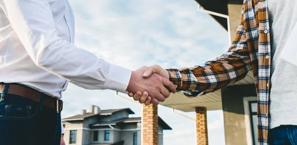
[(121, 108), (121, 109), (109, 109), (109, 110), (101, 110), (99, 114), (95, 113), (86, 113), (84, 115), (78, 114), (75, 116), (64, 118), (64, 121), (70, 121), (70, 120), (84, 120), (85, 118), (89, 118), (96, 115), (111, 115), (112, 113), (118, 112), (118, 111), (128, 111), (129, 114), (135, 114), (130, 108)]

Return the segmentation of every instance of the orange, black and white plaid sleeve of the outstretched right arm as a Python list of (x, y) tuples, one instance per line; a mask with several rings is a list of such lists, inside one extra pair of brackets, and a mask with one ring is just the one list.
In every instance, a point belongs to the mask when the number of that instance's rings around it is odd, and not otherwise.
[(226, 53), (201, 66), (167, 69), (167, 71), (177, 91), (183, 92), (188, 97), (196, 97), (244, 79), (250, 69), (244, 17), (242, 17), (235, 40)]

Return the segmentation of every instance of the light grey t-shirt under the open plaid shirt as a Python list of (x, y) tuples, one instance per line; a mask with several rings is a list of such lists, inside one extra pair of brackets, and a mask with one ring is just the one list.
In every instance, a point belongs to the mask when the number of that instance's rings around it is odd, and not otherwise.
[[(297, 0), (267, 0), (271, 40), (269, 128), (297, 125), (297, 66), (280, 54), (297, 22)], [(297, 41), (297, 39), (296, 39)]]

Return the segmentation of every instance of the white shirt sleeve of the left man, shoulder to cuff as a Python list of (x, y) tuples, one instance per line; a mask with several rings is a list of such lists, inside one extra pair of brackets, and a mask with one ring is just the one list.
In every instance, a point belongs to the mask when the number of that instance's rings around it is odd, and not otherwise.
[(58, 37), (47, 0), (1, 1), (11, 27), (37, 66), (85, 89), (126, 91), (131, 70)]

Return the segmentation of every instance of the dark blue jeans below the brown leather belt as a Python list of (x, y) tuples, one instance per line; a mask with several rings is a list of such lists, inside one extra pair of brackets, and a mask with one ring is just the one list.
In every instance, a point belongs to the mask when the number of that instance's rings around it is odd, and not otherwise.
[(60, 113), (43, 101), (5, 93), (0, 96), (0, 145), (60, 145)]

